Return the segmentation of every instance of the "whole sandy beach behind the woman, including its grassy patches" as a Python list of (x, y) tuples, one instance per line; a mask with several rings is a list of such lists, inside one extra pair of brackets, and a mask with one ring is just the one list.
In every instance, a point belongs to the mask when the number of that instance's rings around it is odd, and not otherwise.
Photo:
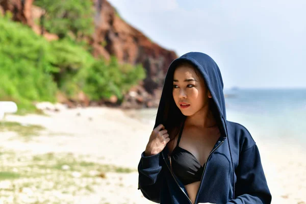
[[(120, 109), (7, 115), (37, 135), (2, 131), (0, 203), (153, 203), (137, 190), (137, 165), (153, 126)], [(306, 204), (301, 145), (257, 140), (272, 203)], [(7, 175), (9, 179), (3, 179)]]

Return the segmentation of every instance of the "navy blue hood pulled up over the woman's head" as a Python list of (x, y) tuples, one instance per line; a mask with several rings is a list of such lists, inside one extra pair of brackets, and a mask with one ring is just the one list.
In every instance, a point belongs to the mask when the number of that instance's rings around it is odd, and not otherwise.
[(187, 53), (170, 64), (164, 81), (154, 128), (159, 124), (164, 124), (166, 129), (169, 127), (176, 128), (181, 126), (186, 119), (186, 116), (177, 108), (172, 96), (174, 70), (184, 62), (193, 65), (205, 81), (212, 95), (212, 112), (218, 123), (221, 135), (226, 137), (226, 111), (221, 72), (210, 56), (199, 52)]

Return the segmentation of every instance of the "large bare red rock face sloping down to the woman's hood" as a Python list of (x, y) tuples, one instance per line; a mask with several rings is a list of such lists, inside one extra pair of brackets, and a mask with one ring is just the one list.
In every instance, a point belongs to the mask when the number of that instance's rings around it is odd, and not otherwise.
[(91, 42), (93, 55), (109, 58), (114, 55), (121, 62), (141, 63), (147, 71), (145, 89), (152, 93), (164, 83), (168, 66), (176, 54), (151, 42), (140, 31), (120, 18), (106, 0), (95, 0), (95, 33)]

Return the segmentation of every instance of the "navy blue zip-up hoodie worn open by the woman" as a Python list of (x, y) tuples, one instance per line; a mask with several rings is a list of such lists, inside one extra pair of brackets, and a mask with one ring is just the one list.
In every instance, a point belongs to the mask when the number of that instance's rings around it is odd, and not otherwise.
[[(220, 121), (221, 136), (207, 159), (195, 203), (271, 203), (258, 147), (243, 125), (226, 120), (221, 73), (208, 55), (187, 53), (170, 64), (154, 129), (165, 122), (165, 103), (172, 95), (175, 67), (181, 62), (191, 63), (201, 73), (212, 94), (216, 117)], [(142, 152), (138, 165), (138, 189), (154, 202), (191, 203), (184, 185), (171, 171), (168, 153), (167, 146), (153, 156), (146, 157)]]

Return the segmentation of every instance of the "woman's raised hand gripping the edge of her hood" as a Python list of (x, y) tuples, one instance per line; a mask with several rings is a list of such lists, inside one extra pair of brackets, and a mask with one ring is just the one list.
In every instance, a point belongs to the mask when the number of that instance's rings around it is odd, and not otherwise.
[[(164, 129), (164, 130), (162, 130)], [(145, 148), (145, 156), (156, 155), (161, 152), (170, 141), (168, 131), (163, 124), (159, 124), (151, 133), (149, 142)]]

